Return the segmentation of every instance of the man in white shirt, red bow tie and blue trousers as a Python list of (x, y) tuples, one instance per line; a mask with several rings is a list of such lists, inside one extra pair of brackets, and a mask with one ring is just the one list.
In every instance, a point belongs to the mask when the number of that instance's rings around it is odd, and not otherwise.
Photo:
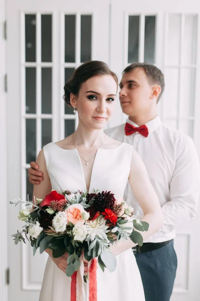
[[(200, 188), (198, 157), (191, 138), (167, 128), (157, 116), (156, 104), (164, 90), (164, 76), (158, 68), (131, 64), (124, 69), (119, 86), (121, 108), (128, 120), (105, 132), (134, 146), (158, 196), (164, 225), (142, 247), (134, 247), (133, 252), (146, 301), (169, 301), (177, 267), (174, 228), (196, 213)], [(42, 174), (34, 170), (38, 169), (34, 162), (30, 166), (30, 182), (39, 184)], [(124, 200), (134, 208), (135, 215), (142, 215), (129, 185)]]

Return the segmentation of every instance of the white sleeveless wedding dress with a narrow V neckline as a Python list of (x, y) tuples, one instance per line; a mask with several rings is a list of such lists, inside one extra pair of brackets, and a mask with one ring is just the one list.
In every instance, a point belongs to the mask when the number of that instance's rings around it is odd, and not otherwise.
[[(58, 192), (85, 190), (83, 169), (77, 150), (63, 149), (55, 143), (43, 147), (52, 190)], [(113, 149), (97, 149), (92, 167), (89, 193), (93, 189), (111, 191), (123, 197), (129, 176), (132, 146), (122, 143)], [(145, 301), (140, 273), (131, 249), (116, 256), (114, 272), (97, 267), (97, 301)], [(71, 278), (67, 277), (48, 257), (39, 301), (70, 301)], [(88, 283), (85, 283), (88, 297)]]

